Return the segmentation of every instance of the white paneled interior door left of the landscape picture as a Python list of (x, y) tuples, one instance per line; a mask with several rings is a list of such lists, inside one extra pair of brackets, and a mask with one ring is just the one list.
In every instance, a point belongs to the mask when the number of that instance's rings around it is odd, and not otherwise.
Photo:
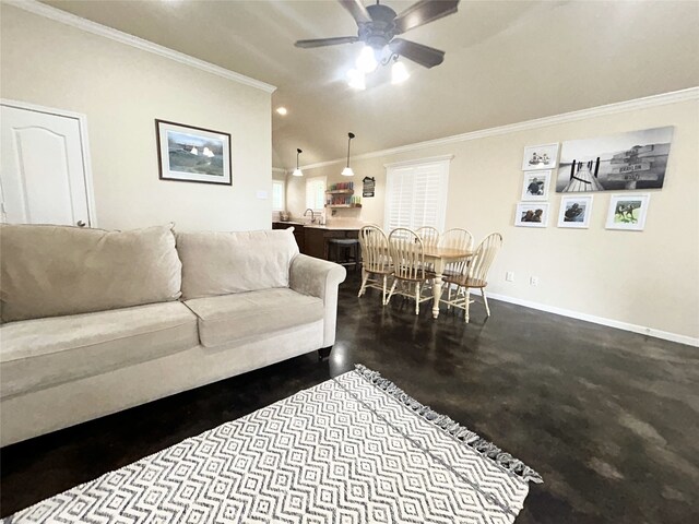
[(5, 103), (0, 110), (2, 222), (94, 226), (80, 118)]

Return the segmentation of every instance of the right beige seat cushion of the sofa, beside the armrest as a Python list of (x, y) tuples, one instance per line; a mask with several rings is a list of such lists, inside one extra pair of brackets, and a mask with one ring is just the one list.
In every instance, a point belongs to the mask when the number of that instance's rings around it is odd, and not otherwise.
[(185, 302), (199, 317), (205, 347), (263, 336), (323, 319), (323, 301), (288, 288), (196, 298)]

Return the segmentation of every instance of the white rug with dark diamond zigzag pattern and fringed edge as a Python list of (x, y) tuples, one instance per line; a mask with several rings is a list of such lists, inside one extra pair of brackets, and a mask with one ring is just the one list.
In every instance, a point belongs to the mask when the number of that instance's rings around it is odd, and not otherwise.
[(358, 365), (7, 523), (511, 523), (531, 468)]

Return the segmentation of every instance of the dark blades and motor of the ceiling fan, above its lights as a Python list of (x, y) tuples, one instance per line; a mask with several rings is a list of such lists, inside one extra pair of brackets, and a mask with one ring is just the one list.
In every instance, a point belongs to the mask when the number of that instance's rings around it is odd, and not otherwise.
[(455, 13), (460, 0), (419, 0), (401, 14), (396, 14), (388, 5), (381, 5), (378, 0), (376, 4), (366, 7), (362, 3), (362, 0), (337, 1), (352, 14), (357, 23), (357, 36), (298, 40), (295, 44), (296, 47), (307, 49), (364, 41), (375, 51), (380, 51), (388, 46), (392, 55), (400, 55), (425, 68), (434, 68), (445, 60), (445, 51), (394, 37)]

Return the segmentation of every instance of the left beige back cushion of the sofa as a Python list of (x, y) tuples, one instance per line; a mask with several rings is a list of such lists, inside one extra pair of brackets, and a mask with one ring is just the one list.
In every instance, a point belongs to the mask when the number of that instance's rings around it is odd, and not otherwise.
[(132, 231), (0, 226), (3, 322), (177, 300), (173, 225)]

